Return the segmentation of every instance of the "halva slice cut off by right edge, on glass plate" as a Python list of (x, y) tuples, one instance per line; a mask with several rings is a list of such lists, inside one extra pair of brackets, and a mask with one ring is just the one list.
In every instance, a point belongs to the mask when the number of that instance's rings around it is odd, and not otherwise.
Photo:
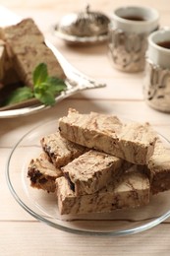
[(154, 152), (147, 164), (151, 193), (157, 194), (170, 189), (170, 148), (157, 140)]

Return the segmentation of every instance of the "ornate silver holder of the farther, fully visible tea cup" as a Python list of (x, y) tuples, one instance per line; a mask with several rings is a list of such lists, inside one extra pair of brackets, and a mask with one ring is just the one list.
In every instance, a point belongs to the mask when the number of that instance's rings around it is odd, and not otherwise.
[(139, 72), (144, 69), (147, 33), (129, 33), (109, 29), (108, 48), (113, 66), (124, 72)]

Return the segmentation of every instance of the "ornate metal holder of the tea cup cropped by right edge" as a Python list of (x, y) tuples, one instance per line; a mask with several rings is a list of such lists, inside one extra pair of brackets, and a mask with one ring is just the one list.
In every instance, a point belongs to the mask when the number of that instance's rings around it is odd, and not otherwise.
[(149, 106), (170, 113), (170, 69), (146, 59), (143, 96)]

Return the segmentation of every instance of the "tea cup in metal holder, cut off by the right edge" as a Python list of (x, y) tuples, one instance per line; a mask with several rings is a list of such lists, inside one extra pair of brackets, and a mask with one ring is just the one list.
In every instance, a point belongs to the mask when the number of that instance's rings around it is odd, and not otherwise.
[(143, 96), (156, 110), (170, 112), (170, 28), (148, 36)]

